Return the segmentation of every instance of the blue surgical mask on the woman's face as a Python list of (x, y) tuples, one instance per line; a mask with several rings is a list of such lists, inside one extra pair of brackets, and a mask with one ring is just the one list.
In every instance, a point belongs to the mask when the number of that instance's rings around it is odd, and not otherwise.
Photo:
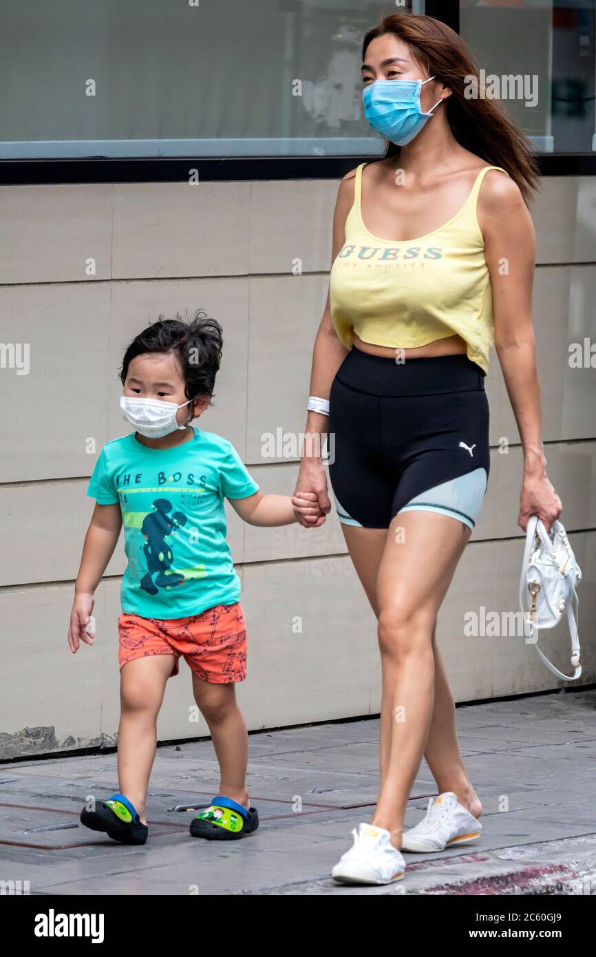
[(420, 91), (429, 79), (375, 79), (363, 90), (364, 116), (373, 129), (397, 146), (406, 146), (433, 116), (420, 106)]

